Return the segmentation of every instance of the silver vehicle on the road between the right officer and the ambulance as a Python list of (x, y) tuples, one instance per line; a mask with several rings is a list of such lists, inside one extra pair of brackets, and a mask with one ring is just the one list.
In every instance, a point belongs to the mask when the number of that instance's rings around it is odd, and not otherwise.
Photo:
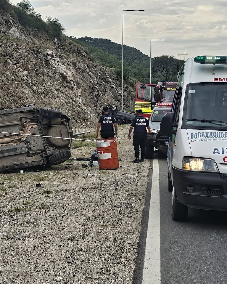
[(154, 107), (152, 115), (149, 119), (150, 138), (146, 139), (146, 159), (153, 159), (154, 153), (162, 152), (167, 153), (169, 137), (164, 136), (160, 132), (160, 123), (162, 117), (171, 111), (171, 107), (157, 106)]

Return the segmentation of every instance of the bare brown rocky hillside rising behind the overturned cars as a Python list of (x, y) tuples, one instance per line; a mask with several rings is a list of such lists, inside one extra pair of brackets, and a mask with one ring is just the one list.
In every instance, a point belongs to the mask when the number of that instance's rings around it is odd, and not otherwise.
[[(95, 126), (106, 104), (121, 108), (121, 81), (110, 68), (89, 59), (86, 49), (62, 37), (22, 27), (0, 10), (0, 108), (22, 105), (65, 110), (75, 131)], [(124, 87), (125, 109), (132, 108), (134, 90)]]

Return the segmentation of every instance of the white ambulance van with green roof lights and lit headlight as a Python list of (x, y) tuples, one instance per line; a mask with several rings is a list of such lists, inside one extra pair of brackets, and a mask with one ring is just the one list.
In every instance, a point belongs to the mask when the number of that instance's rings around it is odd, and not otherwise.
[(177, 81), (160, 132), (169, 137), (172, 218), (183, 221), (188, 207), (227, 210), (227, 57), (189, 58)]

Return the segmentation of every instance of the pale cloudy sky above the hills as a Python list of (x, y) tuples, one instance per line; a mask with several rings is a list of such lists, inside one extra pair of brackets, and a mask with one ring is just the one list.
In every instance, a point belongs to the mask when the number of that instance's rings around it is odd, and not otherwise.
[[(11, 2), (15, 4), (18, 0)], [(124, 44), (148, 56), (151, 50), (151, 57), (167, 54), (183, 60), (198, 55), (227, 55), (226, 0), (30, 0), (30, 3), (43, 19), (57, 17), (68, 36), (107, 38), (122, 44), (123, 26)], [(123, 10), (137, 9), (144, 11), (125, 11), (122, 17)]]

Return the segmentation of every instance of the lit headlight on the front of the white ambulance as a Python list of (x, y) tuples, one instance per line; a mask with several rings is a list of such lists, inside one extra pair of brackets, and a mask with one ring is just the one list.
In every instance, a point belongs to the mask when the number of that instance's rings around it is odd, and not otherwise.
[(215, 162), (210, 159), (183, 158), (182, 169), (186, 171), (218, 172)]

